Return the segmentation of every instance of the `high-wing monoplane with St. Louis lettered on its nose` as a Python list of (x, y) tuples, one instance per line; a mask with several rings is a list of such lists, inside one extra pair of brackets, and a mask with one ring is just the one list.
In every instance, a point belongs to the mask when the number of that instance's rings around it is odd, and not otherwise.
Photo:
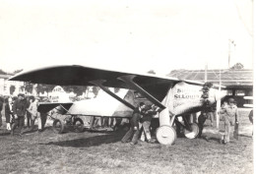
[[(21, 72), (9, 80), (57, 86), (100, 87), (131, 111), (136, 108), (136, 105), (128, 102), (125, 97), (118, 96), (108, 87), (127, 88), (140, 92), (151, 103), (160, 108), (160, 127), (157, 130), (157, 139), (162, 145), (172, 145), (176, 140), (176, 132), (172, 127), (174, 120), (184, 128), (185, 137), (189, 139), (196, 138), (199, 133), (198, 125), (196, 123), (188, 123), (187, 119), (184, 119), (183, 124), (178, 121), (177, 117), (201, 111), (205, 107), (216, 103), (217, 100), (225, 95), (224, 92), (222, 93), (218, 90), (218, 87), (208, 83), (204, 84), (151, 74), (117, 72), (79, 65), (54, 66)], [(66, 110), (66, 114), (71, 116), (94, 115), (92, 113), (87, 114), (86, 107), (78, 112), (77, 109), (74, 109), (77, 105), (81, 106), (77, 102), (41, 103), (38, 106), (38, 111), (48, 112), (57, 106), (61, 106)], [(98, 110), (100, 111), (100, 105), (98, 105)], [(105, 116), (127, 118), (131, 117), (131, 114)]]

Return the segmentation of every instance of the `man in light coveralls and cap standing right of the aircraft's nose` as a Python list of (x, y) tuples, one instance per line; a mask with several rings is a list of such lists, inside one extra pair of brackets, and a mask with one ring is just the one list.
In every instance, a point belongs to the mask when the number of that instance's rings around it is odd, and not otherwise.
[(238, 108), (234, 103), (234, 99), (229, 98), (228, 104), (220, 111), (221, 114), (224, 114), (224, 145), (229, 142), (230, 127), (235, 122), (238, 123)]

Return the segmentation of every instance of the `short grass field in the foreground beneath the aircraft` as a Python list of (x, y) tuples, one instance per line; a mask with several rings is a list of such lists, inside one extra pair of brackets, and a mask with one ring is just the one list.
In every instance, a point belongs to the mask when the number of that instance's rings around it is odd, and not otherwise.
[[(239, 141), (220, 145), (207, 121), (204, 139), (176, 144), (121, 144), (125, 132), (42, 133), (10, 136), (0, 130), (0, 173), (253, 173), (252, 126), (240, 111)], [(224, 125), (221, 123), (221, 130)]]

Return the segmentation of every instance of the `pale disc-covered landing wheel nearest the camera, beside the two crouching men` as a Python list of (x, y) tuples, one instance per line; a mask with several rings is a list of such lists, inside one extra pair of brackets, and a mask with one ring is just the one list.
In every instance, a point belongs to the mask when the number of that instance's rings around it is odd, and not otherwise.
[(170, 126), (163, 125), (157, 130), (157, 139), (161, 145), (173, 145), (176, 138), (176, 131)]

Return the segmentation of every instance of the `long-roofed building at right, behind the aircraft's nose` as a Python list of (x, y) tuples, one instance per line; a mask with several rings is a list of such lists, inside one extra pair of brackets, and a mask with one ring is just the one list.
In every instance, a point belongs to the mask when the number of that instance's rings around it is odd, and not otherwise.
[(252, 100), (245, 100), (244, 96), (253, 96), (253, 70), (208, 70), (207, 73), (205, 70), (173, 70), (168, 76), (199, 82), (205, 82), (207, 78), (207, 82), (215, 85), (220, 85), (221, 82), (228, 93), (224, 99), (233, 97), (238, 107), (243, 107), (245, 103), (252, 104)]

